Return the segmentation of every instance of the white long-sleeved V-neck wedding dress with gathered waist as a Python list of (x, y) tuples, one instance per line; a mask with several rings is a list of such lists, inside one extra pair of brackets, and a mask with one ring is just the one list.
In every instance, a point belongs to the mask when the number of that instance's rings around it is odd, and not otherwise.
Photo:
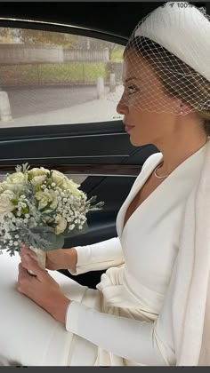
[[(28, 366), (175, 365), (167, 292), (179, 250), (183, 213), (199, 179), (205, 146), (141, 203), (125, 211), (161, 162), (151, 155), (117, 215), (117, 238), (77, 247), (77, 274), (106, 269), (98, 290), (50, 271), (73, 301), (66, 329), (16, 290), (19, 256), (0, 257), (0, 354)], [(0, 357), (1, 363), (1, 357)]]

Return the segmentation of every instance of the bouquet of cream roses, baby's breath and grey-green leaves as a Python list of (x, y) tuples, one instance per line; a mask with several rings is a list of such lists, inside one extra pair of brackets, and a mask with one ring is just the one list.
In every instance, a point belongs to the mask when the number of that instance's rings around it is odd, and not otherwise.
[(0, 183), (0, 249), (14, 255), (21, 245), (36, 252), (45, 268), (45, 251), (61, 249), (65, 237), (86, 231), (86, 214), (103, 202), (87, 200), (74, 181), (60, 171), (17, 166)]

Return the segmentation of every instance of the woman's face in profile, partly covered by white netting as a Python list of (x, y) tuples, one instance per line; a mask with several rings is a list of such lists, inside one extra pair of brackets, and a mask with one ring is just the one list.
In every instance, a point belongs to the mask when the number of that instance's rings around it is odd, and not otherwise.
[(149, 63), (133, 50), (125, 53), (123, 67), (124, 93), (117, 113), (124, 115), (125, 131), (133, 146), (158, 145), (159, 140), (174, 131), (177, 115), (163, 113), (178, 109), (177, 99), (163, 91), (162, 84)]

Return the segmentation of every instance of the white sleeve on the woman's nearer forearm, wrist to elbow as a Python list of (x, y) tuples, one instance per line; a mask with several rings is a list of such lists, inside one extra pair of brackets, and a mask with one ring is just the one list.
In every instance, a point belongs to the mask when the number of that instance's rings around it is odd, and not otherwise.
[(174, 278), (175, 275), (172, 276), (162, 311), (154, 322), (100, 313), (72, 301), (66, 314), (66, 329), (130, 361), (150, 366), (175, 365), (172, 321)]

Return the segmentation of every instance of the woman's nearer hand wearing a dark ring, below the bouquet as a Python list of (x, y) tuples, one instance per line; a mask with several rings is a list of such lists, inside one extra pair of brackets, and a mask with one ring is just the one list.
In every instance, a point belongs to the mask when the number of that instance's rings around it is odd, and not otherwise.
[[(32, 270), (36, 277), (28, 274), (28, 269)], [(28, 254), (21, 256), (18, 290), (44, 308), (57, 321), (65, 324), (69, 298), (64, 296), (59, 284), (52, 279), (52, 276), (37, 266), (36, 261)]]

